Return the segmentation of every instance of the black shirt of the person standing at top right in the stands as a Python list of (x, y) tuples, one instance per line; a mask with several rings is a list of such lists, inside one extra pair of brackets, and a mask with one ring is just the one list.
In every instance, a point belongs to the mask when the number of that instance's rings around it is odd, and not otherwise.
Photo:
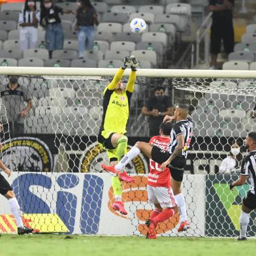
[[(209, 5), (223, 5), (223, 0), (209, 0)], [(232, 6), (234, 6), (234, 0), (229, 0)], [(212, 23), (221, 24), (223, 22), (232, 22), (232, 10), (225, 9), (217, 12), (213, 12), (212, 14)]]

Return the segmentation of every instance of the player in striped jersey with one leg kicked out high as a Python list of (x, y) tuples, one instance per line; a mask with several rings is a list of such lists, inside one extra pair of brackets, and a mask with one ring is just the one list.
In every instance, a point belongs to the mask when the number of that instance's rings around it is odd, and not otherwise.
[(185, 210), (185, 199), (181, 190), (187, 150), (189, 149), (191, 137), (193, 136), (193, 123), (190, 118), (187, 119), (188, 112), (189, 109), (187, 105), (178, 104), (174, 116), (165, 117), (165, 121), (176, 121), (170, 133), (171, 143), (168, 147), (168, 152), (146, 142), (136, 142), (135, 146), (133, 146), (133, 148), (131, 148), (131, 150), (121, 159), (118, 165), (115, 167), (102, 165), (102, 168), (108, 172), (119, 172), (125, 165), (142, 152), (148, 158), (162, 164), (162, 170), (165, 170), (166, 167), (170, 168), (172, 174), (172, 189), (181, 212), (182, 223), (178, 228), (178, 232), (185, 231), (189, 227)]

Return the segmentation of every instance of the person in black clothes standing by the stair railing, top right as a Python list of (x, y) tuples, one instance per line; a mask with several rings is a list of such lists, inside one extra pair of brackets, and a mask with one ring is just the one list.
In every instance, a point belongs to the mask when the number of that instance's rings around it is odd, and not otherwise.
[(211, 61), (210, 69), (216, 69), (217, 54), (221, 51), (223, 40), (226, 54), (234, 52), (234, 29), (232, 23), (232, 7), (234, 0), (210, 0), (209, 10), (212, 14), (211, 27)]

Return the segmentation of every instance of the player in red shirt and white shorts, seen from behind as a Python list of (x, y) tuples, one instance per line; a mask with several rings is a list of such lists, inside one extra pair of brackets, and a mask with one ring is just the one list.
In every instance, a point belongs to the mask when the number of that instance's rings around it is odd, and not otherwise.
[[(164, 152), (167, 152), (168, 145), (170, 144), (172, 123), (161, 123), (159, 128), (160, 135), (153, 136), (149, 143), (161, 148)], [(162, 170), (161, 164), (150, 159), (150, 173), (148, 174), (147, 186), (148, 200), (155, 205), (155, 209), (153, 210), (150, 219), (146, 221), (146, 225), (149, 227), (146, 238), (157, 238), (155, 232), (157, 223), (169, 219), (178, 212), (176, 200), (170, 185), (169, 168), (167, 167), (165, 170)], [(163, 211), (163, 208), (166, 209)]]

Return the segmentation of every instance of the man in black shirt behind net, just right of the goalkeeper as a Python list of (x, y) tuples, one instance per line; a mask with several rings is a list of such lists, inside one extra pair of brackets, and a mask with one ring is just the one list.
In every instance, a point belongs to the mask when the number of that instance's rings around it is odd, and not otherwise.
[(173, 114), (172, 104), (170, 104), (169, 98), (165, 95), (165, 88), (157, 86), (154, 89), (154, 95), (148, 98), (141, 112), (144, 116), (149, 116), (150, 136), (158, 135), (159, 125), (163, 118), (166, 115), (172, 116)]

